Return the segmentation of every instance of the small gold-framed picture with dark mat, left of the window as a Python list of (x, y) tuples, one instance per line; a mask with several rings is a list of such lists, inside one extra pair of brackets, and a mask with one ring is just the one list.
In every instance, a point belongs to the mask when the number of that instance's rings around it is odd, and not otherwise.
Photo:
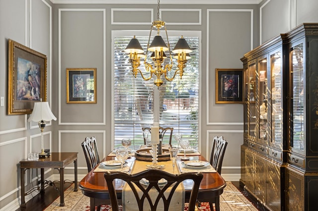
[(97, 68), (67, 68), (67, 104), (96, 104)]

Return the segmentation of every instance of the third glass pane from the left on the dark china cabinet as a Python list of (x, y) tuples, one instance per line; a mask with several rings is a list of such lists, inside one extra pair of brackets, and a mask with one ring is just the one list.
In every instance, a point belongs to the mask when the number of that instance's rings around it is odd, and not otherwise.
[(270, 54), (270, 144), (282, 147), (283, 139), (283, 100), (282, 100), (282, 58), (281, 51)]

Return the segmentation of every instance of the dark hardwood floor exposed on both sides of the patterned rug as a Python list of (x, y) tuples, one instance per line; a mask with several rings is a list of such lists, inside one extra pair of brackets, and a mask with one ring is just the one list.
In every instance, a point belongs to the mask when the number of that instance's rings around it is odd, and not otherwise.
[[(252, 197), (250, 197), (244, 188), (239, 185), (239, 182), (232, 182), (239, 191), (259, 210), (259, 211), (267, 211), (267, 209), (263, 208), (259, 203), (257, 203)], [(72, 185), (71, 182), (66, 182), (64, 187), (65, 190)], [(56, 189), (56, 188), (57, 189)], [(59, 182), (55, 182), (54, 186), (48, 186), (45, 189), (45, 193), (39, 193), (34, 196), (31, 200), (26, 203), (25, 208), (17, 209), (16, 211), (43, 211), (47, 208), (54, 200), (56, 200), (60, 194), (58, 187), (60, 187)]]

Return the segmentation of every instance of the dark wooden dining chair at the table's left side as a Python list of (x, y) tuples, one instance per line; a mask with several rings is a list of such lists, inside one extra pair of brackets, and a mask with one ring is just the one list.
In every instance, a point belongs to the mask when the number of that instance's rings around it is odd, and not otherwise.
[(85, 141), (81, 143), (81, 147), (83, 148), (88, 172), (91, 171), (98, 163), (99, 156), (96, 144), (96, 138), (93, 136), (91, 138), (86, 137)]

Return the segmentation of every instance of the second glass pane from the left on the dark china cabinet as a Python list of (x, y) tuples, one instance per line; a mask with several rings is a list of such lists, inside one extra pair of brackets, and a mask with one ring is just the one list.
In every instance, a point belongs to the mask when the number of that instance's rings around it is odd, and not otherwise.
[(267, 88), (267, 58), (262, 58), (258, 60), (258, 77), (257, 85), (259, 86), (258, 91), (258, 138), (263, 141), (268, 140), (268, 88)]

